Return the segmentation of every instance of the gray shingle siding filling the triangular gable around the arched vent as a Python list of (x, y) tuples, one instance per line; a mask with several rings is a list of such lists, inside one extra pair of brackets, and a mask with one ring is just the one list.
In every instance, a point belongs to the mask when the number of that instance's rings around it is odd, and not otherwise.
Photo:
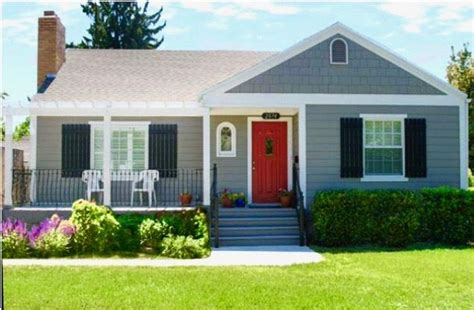
[[(331, 65), (335, 37), (348, 44), (349, 63)], [(236, 86), (229, 93), (428, 94), (442, 95), (407, 71), (359, 44), (336, 35)]]

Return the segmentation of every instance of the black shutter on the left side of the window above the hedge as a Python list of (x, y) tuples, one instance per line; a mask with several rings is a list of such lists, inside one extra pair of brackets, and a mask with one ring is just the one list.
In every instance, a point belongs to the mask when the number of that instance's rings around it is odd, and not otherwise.
[(341, 178), (361, 178), (362, 119), (341, 118)]

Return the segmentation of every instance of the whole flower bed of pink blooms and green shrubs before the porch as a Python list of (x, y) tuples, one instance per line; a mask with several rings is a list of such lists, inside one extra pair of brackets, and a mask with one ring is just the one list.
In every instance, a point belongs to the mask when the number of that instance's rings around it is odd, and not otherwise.
[(4, 258), (107, 255), (114, 251), (145, 252), (174, 258), (208, 256), (209, 232), (201, 209), (153, 216), (113, 212), (78, 200), (68, 220), (53, 215), (28, 229), (21, 220), (1, 226)]

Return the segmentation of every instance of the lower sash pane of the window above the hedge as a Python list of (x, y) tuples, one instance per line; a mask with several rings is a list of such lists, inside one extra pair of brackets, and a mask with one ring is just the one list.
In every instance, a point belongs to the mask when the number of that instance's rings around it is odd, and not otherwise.
[(402, 149), (366, 149), (366, 175), (401, 175)]

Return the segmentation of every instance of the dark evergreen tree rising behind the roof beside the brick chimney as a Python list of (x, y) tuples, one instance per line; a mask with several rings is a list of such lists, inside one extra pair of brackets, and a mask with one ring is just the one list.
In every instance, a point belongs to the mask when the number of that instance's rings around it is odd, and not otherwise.
[(165, 28), (166, 21), (159, 23), (163, 7), (148, 15), (148, 1), (143, 8), (134, 2), (92, 2), (82, 4), (84, 12), (91, 20), (87, 33), (75, 48), (112, 49), (156, 49), (164, 37), (157, 39)]

